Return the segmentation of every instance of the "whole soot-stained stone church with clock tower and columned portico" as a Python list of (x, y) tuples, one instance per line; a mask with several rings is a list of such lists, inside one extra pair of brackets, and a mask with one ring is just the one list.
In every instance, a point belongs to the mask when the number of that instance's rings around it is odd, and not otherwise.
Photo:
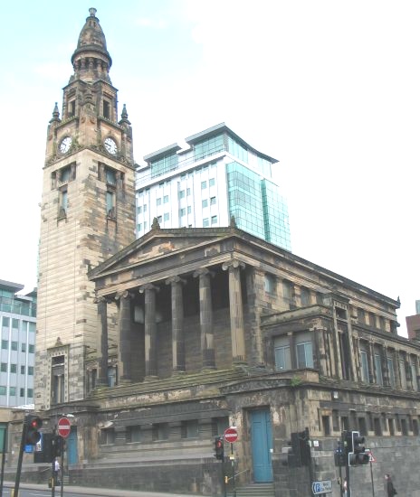
[[(396, 333), (399, 303), (234, 219), (134, 240), (132, 130), (95, 9), (72, 65), (47, 133), (35, 376), (43, 429), (72, 415), (71, 483), (220, 495), (234, 466), (238, 486), (301, 497), (331, 480), (338, 496), (334, 449), (355, 429), (375, 483), (397, 469), (398, 491), (420, 495), (420, 346)], [(294, 467), (306, 428), (310, 464)]]

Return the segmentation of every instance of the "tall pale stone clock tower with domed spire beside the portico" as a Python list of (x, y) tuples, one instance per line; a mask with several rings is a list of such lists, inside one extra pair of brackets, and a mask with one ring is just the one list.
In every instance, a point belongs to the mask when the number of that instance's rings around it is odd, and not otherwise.
[(74, 73), (47, 130), (39, 251), (35, 408), (86, 396), (98, 348), (88, 271), (135, 239), (132, 131), (96, 9), (72, 54)]

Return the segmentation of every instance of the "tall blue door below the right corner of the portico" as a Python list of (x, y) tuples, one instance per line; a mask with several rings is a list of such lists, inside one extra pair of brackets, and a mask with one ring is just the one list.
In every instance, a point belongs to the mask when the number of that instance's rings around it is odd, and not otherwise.
[(252, 411), (253, 481), (272, 482), (272, 418), (269, 409)]

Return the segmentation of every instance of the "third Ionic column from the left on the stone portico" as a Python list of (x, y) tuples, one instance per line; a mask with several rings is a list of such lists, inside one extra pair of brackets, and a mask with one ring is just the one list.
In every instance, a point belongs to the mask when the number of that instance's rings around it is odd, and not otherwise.
[(145, 372), (147, 377), (157, 376), (157, 291), (157, 286), (151, 283), (139, 289), (140, 294), (145, 295)]

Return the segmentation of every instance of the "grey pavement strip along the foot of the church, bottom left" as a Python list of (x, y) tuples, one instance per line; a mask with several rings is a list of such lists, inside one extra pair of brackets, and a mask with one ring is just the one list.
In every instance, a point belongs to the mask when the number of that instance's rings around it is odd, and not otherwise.
[[(14, 482), (5, 482), (5, 487), (14, 488)], [(51, 492), (46, 484), (36, 483), (20, 483), (20, 489), (33, 489), (33, 490), (47, 490)], [(106, 488), (91, 488), (91, 487), (78, 487), (75, 485), (65, 485), (65, 492), (72, 493), (85, 493), (87, 495), (97, 495), (98, 497), (202, 497), (198, 493), (168, 493), (168, 492), (138, 492), (133, 490), (120, 490), (120, 489), (106, 489)], [(55, 495), (61, 495), (61, 487), (55, 487)]]

